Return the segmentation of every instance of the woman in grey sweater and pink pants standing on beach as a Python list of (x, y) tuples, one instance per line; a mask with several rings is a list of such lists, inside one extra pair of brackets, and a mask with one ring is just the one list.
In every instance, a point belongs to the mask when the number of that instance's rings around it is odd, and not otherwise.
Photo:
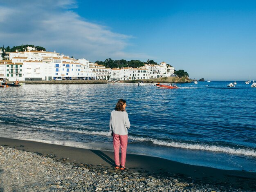
[[(128, 142), (128, 130), (130, 121), (126, 113), (126, 100), (119, 99), (115, 110), (111, 112), (109, 122), (109, 132), (113, 136), (113, 145), (115, 152), (115, 168), (120, 170), (125, 169), (126, 149)], [(121, 145), (121, 166), (119, 163), (119, 149)]]

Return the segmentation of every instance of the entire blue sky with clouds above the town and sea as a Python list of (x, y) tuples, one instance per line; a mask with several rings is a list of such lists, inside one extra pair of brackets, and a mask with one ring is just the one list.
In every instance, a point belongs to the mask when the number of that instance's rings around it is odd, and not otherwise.
[(256, 1), (0, 0), (0, 43), (92, 62), (153, 59), (190, 78), (256, 80)]

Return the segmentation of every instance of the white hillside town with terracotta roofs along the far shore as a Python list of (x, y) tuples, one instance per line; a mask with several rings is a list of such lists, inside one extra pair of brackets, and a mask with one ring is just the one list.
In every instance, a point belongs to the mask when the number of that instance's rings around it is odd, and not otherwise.
[(84, 58), (74, 59), (63, 54), (37, 51), (27, 47), (25, 51), (10, 52), (4, 58), (0, 49), (0, 79), (27, 80), (144, 80), (174, 76), (174, 67), (162, 62), (142, 67), (106, 68)]

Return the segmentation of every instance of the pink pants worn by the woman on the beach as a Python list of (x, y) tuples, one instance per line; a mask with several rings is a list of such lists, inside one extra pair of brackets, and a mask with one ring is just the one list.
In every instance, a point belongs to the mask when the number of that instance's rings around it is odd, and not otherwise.
[(114, 146), (114, 152), (115, 152), (116, 165), (120, 165), (119, 163), (120, 145), (121, 145), (121, 166), (125, 165), (127, 142), (128, 142), (128, 135), (118, 135), (113, 133), (113, 146)]

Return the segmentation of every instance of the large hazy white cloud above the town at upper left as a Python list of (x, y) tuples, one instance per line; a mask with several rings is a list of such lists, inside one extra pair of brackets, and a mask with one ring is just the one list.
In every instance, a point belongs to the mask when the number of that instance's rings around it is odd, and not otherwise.
[[(0, 6), (0, 36), (5, 46), (32, 44), (89, 60), (148, 57), (124, 51), (131, 36), (81, 18), (68, 8), (74, 0), (15, 1)], [(1, 27), (2, 29), (2, 27)]]

